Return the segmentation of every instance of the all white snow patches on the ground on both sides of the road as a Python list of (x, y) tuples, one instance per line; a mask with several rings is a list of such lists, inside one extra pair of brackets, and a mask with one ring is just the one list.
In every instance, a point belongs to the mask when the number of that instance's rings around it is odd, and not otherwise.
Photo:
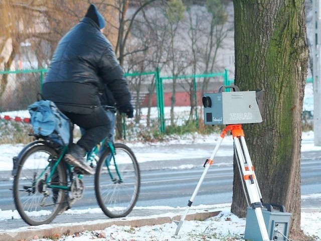
[[(311, 95), (311, 85), (307, 84), (305, 90), (306, 95)], [(18, 116), (23, 115), (23, 113), (17, 113)], [(28, 117), (28, 116), (27, 116)], [(219, 138), (218, 134), (209, 136), (200, 136), (197, 134), (186, 135), (174, 140), (169, 140), (165, 143), (126, 143), (129, 147), (135, 145), (136, 147), (145, 147), (150, 145), (163, 145), (164, 147), (174, 144), (202, 144), (202, 143), (216, 143)], [(302, 134), (302, 146), (301, 151), (319, 151), (321, 147), (316, 147), (313, 144), (314, 134), (313, 132), (305, 132)], [(233, 140), (231, 137), (227, 136), (222, 145), (232, 145)], [(0, 171), (11, 170), (12, 169), (12, 157), (16, 156), (19, 151), (23, 148), (23, 145), (0, 145), (0, 152), (2, 153), (2, 158), (0, 159)], [(152, 158), (144, 155), (144, 153), (135, 153), (139, 162), (146, 161), (157, 161), (165, 159), (175, 159), (177, 156), (182, 156), (184, 150), (177, 150), (170, 153), (166, 153), (166, 156), (162, 153), (155, 153)], [(193, 155), (199, 155), (197, 152)], [(186, 155), (184, 153), (183, 155)], [(155, 158), (157, 157), (157, 158)], [(186, 167), (189, 168), (188, 165)], [(316, 193), (314, 196), (320, 196), (321, 194)], [(308, 198), (308, 197), (305, 197)], [(244, 218), (238, 218), (230, 212), (230, 203), (223, 203), (212, 206), (195, 206), (195, 209), (211, 209), (220, 210), (221, 213), (218, 216), (208, 218), (205, 221), (185, 221), (178, 235), (174, 236), (177, 225), (173, 223), (166, 223), (162, 225), (153, 226), (142, 226), (142, 227), (130, 227), (130, 226), (111, 226), (105, 228), (104, 230), (96, 231), (85, 231), (79, 232), (73, 235), (67, 236), (55, 236), (54, 240), (57, 241), (87, 241), (87, 240), (97, 240), (97, 241), (107, 241), (107, 240), (122, 240), (122, 241), (188, 241), (188, 240), (244, 240), (245, 224), (246, 220)], [(321, 203), (320, 203), (321, 207)], [(174, 209), (173, 207), (135, 207), (135, 208), (151, 208), (151, 209)], [(178, 207), (179, 208), (179, 207)], [(182, 214), (185, 207), (181, 208)], [(318, 209), (319, 210), (319, 209)], [(79, 213), (97, 213), (101, 212), (99, 208), (87, 209), (87, 210), (67, 210), (66, 213), (69, 214), (79, 214)], [(19, 214), (16, 210), (1, 210), (0, 209), (0, 221), (12, 217), (19, 218)], [(99, 220), (98, 220), (99, 221)], [(97, 222), (98, 222), (97, 221)], [(321, 212), (302, 212), (301, 213), (301, 228), (305, 234), (310, 235), (314, 240), (321, 240)], [(28, 227), (25, 227), (26, 229)], [(19, 228), (23, 230), (24, 228)], [(35, 237), (33, 241), (45, 241), (52, 240), (46, 238)], [(295, 241), (295, 240), (293, 240)]]

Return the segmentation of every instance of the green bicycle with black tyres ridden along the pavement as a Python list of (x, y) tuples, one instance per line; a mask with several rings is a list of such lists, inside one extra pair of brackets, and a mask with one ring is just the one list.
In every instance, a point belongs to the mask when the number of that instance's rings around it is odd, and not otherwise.
[[(36, 140), (13, 158), (14, 202), (29, 225), (48, 224), (83, 196), (84, 183), (75, 167), (64, 162), (69, 146), (57, 146), (47, 137), (29, 135)], [(110, 218), (127, 216), (140, 190), (140, 170), (132, 150), (105, 138), (87, 154), (87, 162), (96, 165), (94, 188), (99, 207)]]

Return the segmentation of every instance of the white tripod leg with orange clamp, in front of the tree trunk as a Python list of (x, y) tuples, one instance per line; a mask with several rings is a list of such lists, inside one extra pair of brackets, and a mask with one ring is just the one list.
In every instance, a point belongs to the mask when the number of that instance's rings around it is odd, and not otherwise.
[[(249, 158), (250, 155), (248, 153), (248, 149), (244, 140), (244, 137), (240, 137), (242, 141), (242, 147), (243, 151), (239, 142), (239, 139), (237, 137), (234, 137), (234, 145), (236, 147), (236, 152), (239, 157), (240, 167), (243, 173), (243, 178), (245, 181), (245, 185), (249, 194), (250, 202), (252, 205), (252, 208), (255, 210), (255, 215), (258, 221), (258, 225), (260, 228), (260, 233), (262, 235), (263, 241), (269, 241), (269, 235), (267, 233), (267, 229), (265, 226), (263, 214), (262, 214), (262, 203), (260, 192), (258, 189), (257, 180), (253, 171), (253, 166), (251, 159)], [(243, 140), (242, 140), (243, 139)], [(244, 155), (245, 157), (244, 157)], [(247, 169), (245, 168), (245, 164), (247, 164)]]

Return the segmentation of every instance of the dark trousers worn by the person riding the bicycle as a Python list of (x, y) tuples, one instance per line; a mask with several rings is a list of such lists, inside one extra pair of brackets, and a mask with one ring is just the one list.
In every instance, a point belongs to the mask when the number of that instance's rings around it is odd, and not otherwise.
[(90, 114), (77, 114), (64, 112), (73, 124), (83, 128), (85, 134), (81, 136), (77, 144), (87, 152), (106, 138), (110, 132), (110, 121), (102, 107), (95, 108)]

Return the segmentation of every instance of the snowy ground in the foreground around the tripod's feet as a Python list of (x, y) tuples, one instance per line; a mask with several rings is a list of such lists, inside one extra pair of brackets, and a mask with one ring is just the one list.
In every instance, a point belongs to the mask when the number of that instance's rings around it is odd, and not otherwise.
[[(103, 230), (84, 231), (72, 235), (55, 236), (55, 239), (35, 237), (33, 241), (196, 241), (196, 240), (244, 240), (245, 218), (238, 218), (230, 212), (230, 207), (219, 207), (221, 212), (205, 221), (184, 221), (178, 235), (175, 222), (142, 227), (112, 225)], [(224, 205), (221, 205), (224, 206)], [(305, 234), (321, 240), (321, 212), (301, 213), (301, 227)], [(92, 223), (92, 222), (91, 222)], [(20, 229), (21, 230), (21, 229)], [(283, 240), (283, 239), (281, 239)], [(295, 240), (293, 240), (295, 241)]]

